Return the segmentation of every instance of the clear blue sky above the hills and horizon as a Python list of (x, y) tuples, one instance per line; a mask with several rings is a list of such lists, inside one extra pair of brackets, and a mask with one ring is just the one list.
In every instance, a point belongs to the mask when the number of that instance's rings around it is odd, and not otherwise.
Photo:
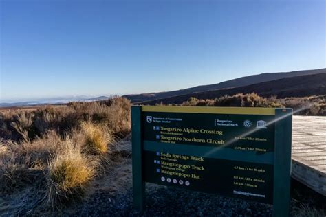
[(0, 0), (0, 100), (325, 67), (325, 1)]

